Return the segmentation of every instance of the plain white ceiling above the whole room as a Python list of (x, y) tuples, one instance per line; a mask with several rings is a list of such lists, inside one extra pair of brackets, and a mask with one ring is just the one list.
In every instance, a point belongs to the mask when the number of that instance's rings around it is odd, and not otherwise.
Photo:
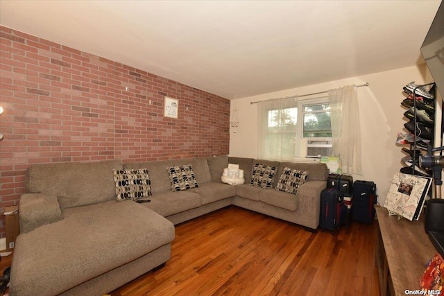
[(241, 98), (423, 63), (440, 3), (0, 0), (0, 24)]

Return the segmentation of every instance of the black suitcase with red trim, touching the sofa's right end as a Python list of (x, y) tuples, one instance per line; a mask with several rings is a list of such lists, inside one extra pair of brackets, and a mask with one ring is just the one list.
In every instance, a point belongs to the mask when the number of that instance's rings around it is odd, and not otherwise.
[(343, 193), (334, 188), (327, 188), (321, 192), (321, 211), (319, 225), (321, 230), (334, 230), (341, 227), (345, 218), (347, 206), (344, 203)]

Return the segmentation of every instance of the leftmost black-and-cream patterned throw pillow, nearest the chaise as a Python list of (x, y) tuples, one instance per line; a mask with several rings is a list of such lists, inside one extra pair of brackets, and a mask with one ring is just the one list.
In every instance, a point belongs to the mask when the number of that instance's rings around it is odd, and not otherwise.
[(113, 170), (117, 200), (138, 200), (151, 196), (148, 170)]

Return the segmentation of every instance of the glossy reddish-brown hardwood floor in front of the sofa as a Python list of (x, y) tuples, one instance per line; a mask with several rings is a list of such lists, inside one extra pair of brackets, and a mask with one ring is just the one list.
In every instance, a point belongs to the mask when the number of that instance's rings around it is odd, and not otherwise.
[(227, 207), (176, 225), (164, 268), (110, 294), (379, 295), (376, 223), (333, 236)]

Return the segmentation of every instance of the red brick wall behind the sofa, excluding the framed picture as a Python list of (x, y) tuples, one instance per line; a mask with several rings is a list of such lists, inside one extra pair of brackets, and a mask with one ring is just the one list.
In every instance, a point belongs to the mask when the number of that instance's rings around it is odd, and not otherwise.
[(228, 154), (225, 98), (3, 26), (0, 46), (1, 237), (29, 164)]

